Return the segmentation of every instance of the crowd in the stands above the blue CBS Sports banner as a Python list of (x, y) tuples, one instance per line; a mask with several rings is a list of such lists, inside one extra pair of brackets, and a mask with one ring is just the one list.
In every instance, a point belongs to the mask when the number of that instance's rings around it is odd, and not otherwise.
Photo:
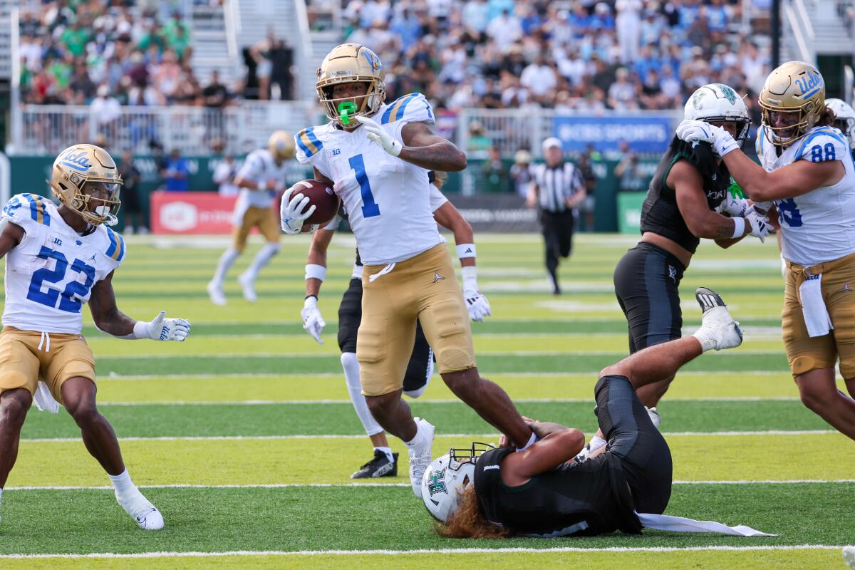
[(343, 10), (345, 38), (384, 62), (390, 98), (421, 91), (452, 110), (675, 109), (711, 82), (756, 94), (769, 73), (765, 21), (727, 0), (357, 0)]

